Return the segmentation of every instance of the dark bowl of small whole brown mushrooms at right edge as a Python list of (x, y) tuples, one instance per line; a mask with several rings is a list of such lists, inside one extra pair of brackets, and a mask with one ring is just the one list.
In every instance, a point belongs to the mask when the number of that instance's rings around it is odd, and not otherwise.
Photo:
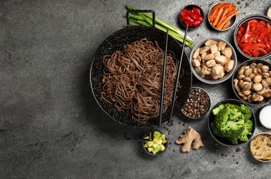
[(271, 100), (271, 63), (261, 59), (241, 63), (232, 76), (232, 88), (244, 103), (268, 103)]

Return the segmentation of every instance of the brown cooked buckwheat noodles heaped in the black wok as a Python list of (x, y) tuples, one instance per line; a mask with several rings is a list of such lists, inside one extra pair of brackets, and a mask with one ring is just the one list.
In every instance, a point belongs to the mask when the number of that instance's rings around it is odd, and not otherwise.
[[(112, 55), (103, 56), (101, 97), (139, 123), (159, 116), (164, 52), (157, 41), (134, 41)], [(183, 70), (182, 74), (183, 75)], [(165, 70), (163, 113), (171, 104), (177, 59), (168, 51)], [(179, 85), (180, 87), (180, 85)]]

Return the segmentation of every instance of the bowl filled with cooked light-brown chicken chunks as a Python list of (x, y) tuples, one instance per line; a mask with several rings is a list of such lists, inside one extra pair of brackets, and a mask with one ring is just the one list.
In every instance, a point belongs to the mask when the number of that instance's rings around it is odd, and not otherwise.
[(237, 54), (227, 41), (203, 39), (190, 54), (192, 72), (200, 81), (218, 84), (228, 80), (237, 66)]

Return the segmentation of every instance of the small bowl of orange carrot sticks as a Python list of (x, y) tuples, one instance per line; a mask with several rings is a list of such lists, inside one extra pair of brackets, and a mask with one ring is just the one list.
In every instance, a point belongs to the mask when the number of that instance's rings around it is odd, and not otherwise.
[(208, 22), (214, 30), (223, 32), (232, 28), (240, 12), (234, 3), (217, 3), (208, 12)]

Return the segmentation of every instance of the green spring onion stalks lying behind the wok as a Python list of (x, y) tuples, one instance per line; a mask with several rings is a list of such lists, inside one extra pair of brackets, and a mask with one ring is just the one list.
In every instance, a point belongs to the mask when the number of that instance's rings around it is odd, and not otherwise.
[[(127, 5), (126, 8), (128, 10), (139, 10), (138, 8), (134, 8), (133, 6)], [(129, 14), (130, 19), (130, 25), (131, 26), (137, 26), (137, 25), (143, 25), (147, 27), (152, 27), (152, 15), (148, 14), (146, 12), (142, 13), (131, 13)], [(174, 37), (174, 39), (177, 39), (177, 41), (180, 41), (183, 43), (183, 36), (184, 32), (179, 30), (179, 28), (174, 27), (173, 25), (170, 25), (168, 23), (165, 23), (161, 21), (160, 19), (155, 18), (155, 28), (158, 28), (159, 30), (162, 30), (163, 32), (167, 31), (168, 33)], [(188, 45), (189, 48), (193, 48), (193, 40), (190, 38), (190, 36), (186, 36), (185, 45)]]

